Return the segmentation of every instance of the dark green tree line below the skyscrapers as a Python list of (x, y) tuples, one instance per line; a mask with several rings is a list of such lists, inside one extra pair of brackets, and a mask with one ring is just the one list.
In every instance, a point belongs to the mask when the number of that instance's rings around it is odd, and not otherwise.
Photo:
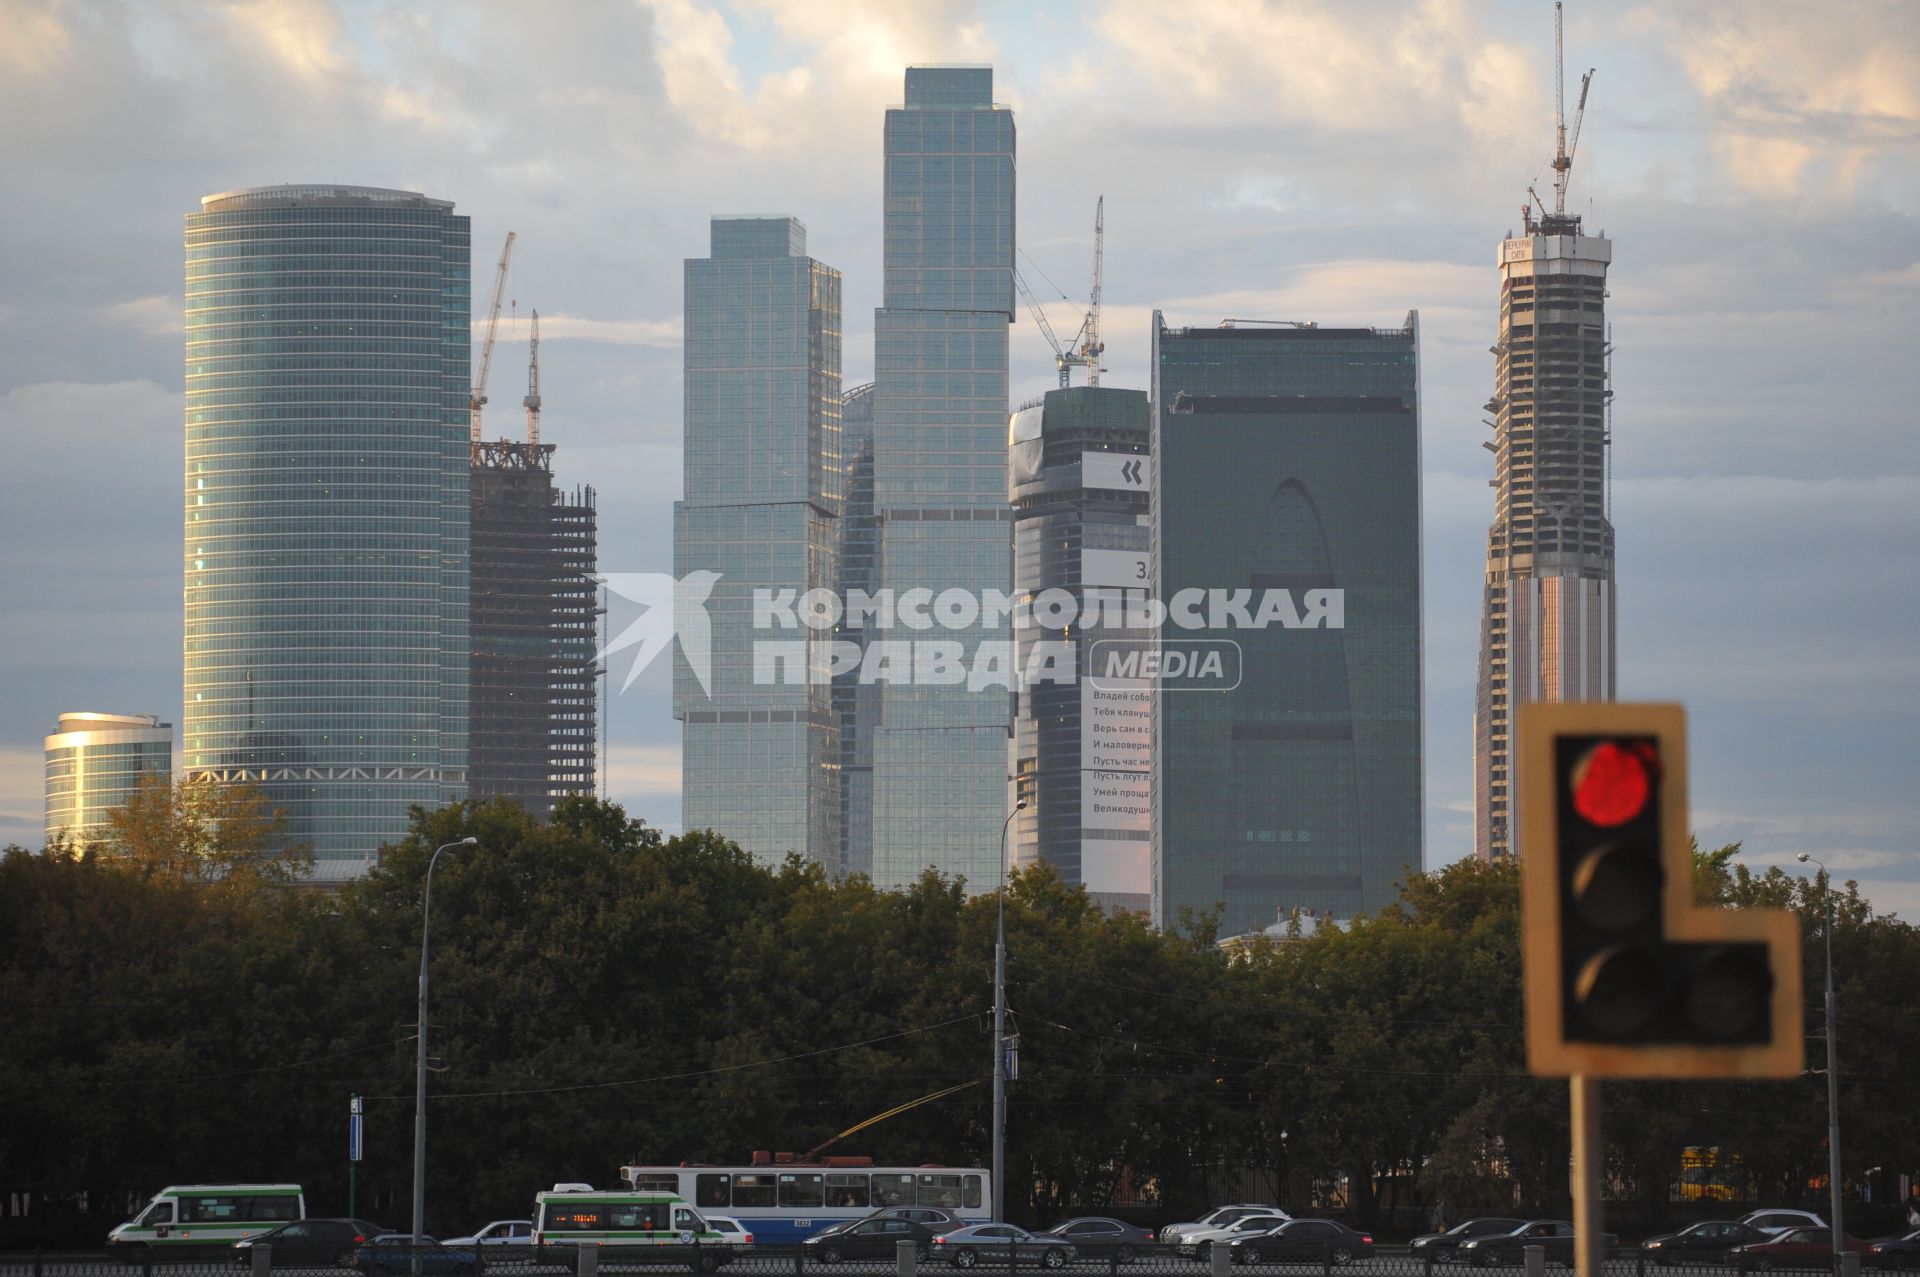
[[(428, 1231), (624, 1162), (804, 1152), (948, 1087), (831, 1152), (987, 1162), (991, 895), (768, 868), (591, 799), (545, 824), (511, 803), (415, 812), (363, 881), (288, 889), (305, 864), (259, 853), (257, 795), (157, 785), (98, 847), (0, 858), (0, 1244), (98, 1242), (167, 1183), (288, 1179), (346, 1214), (349, 1095), (355, 1208), (403, 1227), (422, 879), (468, 835), (434, 874)], [(1697, 893), (1803, 918), (1816, 1066), (1820, 883), (1736, 851), (1695, 855)], [(1212, 916), (1156, 931), (1046, 868), (1014, 874), (1006, 908), (1016, 1219), (1139, 1200), (1190, 1217), (1246, 1183), (1369, 1227), (1434, 1202), (1569, 1210), (1567, 1085), (1526, 1073), (1509, 866), (1409, 874), (1377, 914), (1238, 954)], [(1920, 937), (1851, 883), (1836, 914), (1847, 1189), (1885, 1202), (1920, 1169)], [(1684, 1210), (1688, 1148), (1736, 1160), (1749, 1200), (1826, 1196), (1818, 1075), (1609, 1083), (1605, 1123), (1609, 1193), (1647, 1227)]]

